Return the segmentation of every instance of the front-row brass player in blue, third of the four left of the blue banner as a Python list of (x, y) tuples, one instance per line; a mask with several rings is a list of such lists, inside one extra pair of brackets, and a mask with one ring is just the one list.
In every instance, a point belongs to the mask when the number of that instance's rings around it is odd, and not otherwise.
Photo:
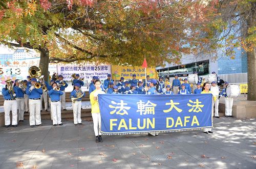
[(57, 91), (57, 83), (52, 83), (52, 89), (48, 92), (49, 96), (51, 96), (51, 112), (52, 112), (52, 123), (53, 126), (63, 124), (61, 123), (61, 103), (60, 96), (63, 95), (61, 90)]

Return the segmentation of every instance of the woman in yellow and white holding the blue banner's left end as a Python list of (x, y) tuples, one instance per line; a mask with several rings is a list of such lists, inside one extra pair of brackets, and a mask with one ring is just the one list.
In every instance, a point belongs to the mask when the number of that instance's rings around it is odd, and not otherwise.
[(92, 117), (93, 117), (93, 129), (96, 136), (95, 142), (103, 142), (100, 132), (101, 127), (101, 118), (100, 118), (100, 110), (98, 103), (98, 94), (105, 94), (101, 88), (101, 82), (99, 80), (95, 81), (95, 90), (90, 94), (90, 102), (92, 105)]

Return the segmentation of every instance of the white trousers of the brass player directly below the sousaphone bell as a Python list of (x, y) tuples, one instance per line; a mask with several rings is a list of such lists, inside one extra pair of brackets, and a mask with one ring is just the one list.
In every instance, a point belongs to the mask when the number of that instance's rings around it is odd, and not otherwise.
[(41, 124), (40, 114), (40, 100), (29, 99), (29, 124), (39, 125)]

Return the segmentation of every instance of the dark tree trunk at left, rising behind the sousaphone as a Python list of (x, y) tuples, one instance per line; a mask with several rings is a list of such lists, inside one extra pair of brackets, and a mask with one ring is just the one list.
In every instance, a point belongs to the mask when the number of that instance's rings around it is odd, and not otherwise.
[(45, 76), (45, 81), (49, 81), (49, 50), (47, 48), (40, 48), (40, 63), (41, 75)]

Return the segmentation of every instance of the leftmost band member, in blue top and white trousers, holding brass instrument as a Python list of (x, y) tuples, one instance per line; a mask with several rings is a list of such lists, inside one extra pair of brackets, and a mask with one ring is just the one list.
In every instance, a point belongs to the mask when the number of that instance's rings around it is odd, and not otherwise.
[[(13, 82), (13, 81), (12, 81)], [(4, 96), (4, 109), (5, 109), (5, 127), (9, 127), (11, 124), (10, 111), (12, 110), (12, 126), (17, 127), (17, 101), (15, 100), (15, 91), (11, 85), (6, 85), (2, 89), (2, 95)]]

